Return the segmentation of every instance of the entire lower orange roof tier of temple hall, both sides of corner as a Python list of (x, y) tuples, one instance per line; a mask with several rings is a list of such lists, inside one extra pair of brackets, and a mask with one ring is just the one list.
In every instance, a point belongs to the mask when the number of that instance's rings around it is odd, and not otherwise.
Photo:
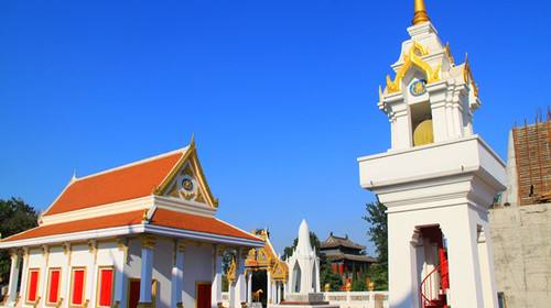
[[(69, 234), (74, 232), (99, 230), (115, 227), (125, 227), (142, 223), (143, 211), (136, 210), (123, 213), (116, 213), (96, 218), (87, 218), (62, 223), (40, 226), (34, 229), (21, 232), (19, 234), (6, 238), (0, 242), (13, 242), (34, 238)], [(202, 217), (196, 215), (175, 212), (165, 209), (156, 209), (153, 218), (149, 222), (153, 226), (168, 227), (179, 230), (188, 230), (202, 233), (226, 235), (252, 241), (259, 241), (258, 238), (237, 229), (214, 217)]]

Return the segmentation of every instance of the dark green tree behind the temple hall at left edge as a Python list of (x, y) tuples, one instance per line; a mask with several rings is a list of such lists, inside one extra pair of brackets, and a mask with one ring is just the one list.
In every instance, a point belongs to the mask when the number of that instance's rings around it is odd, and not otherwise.
[[(2, 239), (37, 226), (39, 213), (20, 198), (0, 199), (0, 235)], [(11, 258), (0, 251), (0, 283), (10, 278)]]

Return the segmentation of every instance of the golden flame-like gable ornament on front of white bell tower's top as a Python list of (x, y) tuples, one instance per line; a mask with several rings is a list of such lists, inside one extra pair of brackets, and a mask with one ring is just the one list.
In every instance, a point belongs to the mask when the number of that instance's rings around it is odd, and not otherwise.
[[(429, 55), (429, 48), (423, 46), (421, 43), (413, 41), (409, 52), (403, 54), (403, 64), (396, 74), (395, 80), (390, 79), (390, 76), (387, 75), (387, 90), (389, 94), (398, 92), (401, 89), (401, 81), (406, 74), (410, 70), (411, 67), (415, 66), (421, 69), (426, 75), (426, 82), (432, 84), (440, 80), (440, 70), (442, 64), (439, 64), (435, 69), (433, 69), (429, 63), (422, 59), (423, 56)], [(379, 92), (379, 96), (381, 92)]]

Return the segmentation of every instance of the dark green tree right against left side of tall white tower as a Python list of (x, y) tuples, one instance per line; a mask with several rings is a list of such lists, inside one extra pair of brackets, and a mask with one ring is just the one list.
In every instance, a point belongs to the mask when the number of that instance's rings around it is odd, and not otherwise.
[(369, 267), (368, 275), (375, 283), (375, 289), (388, 289), (388, 220), (387, 208), (379, 199), (366, 205), (364, 220), (369, 223), (367, 234), (377, 250), (377, 264)]

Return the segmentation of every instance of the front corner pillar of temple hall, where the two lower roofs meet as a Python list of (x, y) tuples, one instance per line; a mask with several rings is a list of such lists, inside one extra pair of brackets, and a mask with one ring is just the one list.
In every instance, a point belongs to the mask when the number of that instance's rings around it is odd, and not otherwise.
[(143, 235), (141, 238), (141, 275), (140, 275), (140, 302), (139, 308), (152, 307), (151, 288), (153, 282), (153, 249), (154, 238)]

